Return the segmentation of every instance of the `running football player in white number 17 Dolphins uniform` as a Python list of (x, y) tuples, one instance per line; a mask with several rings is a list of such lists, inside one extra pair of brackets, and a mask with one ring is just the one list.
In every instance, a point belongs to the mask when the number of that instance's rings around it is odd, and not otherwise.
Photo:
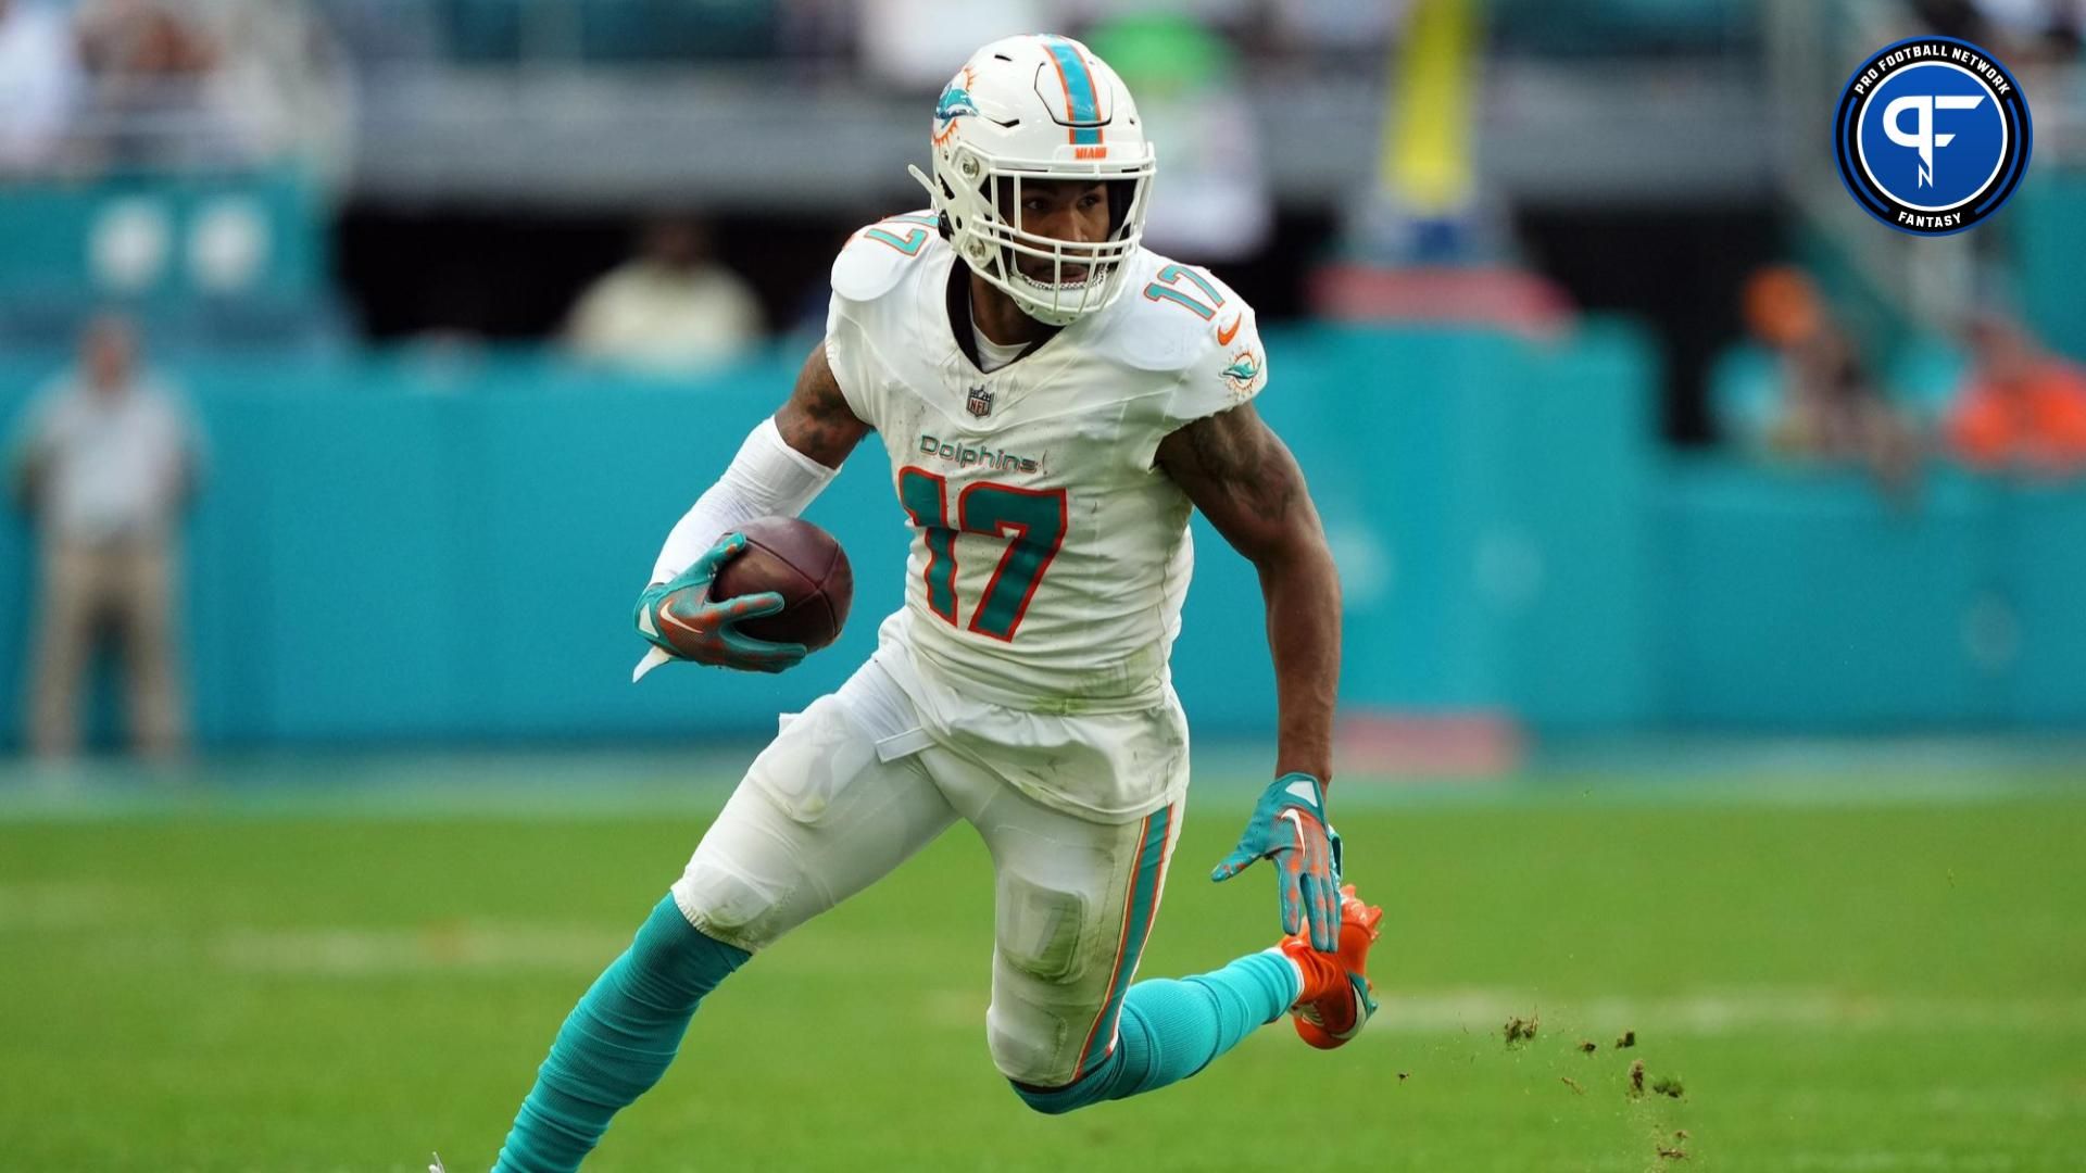
[[(707, 597), (736, 526), (797, 516), (876, 436), (912, 524), (905, 607), (836, 693), (784, 718), (686, 872), (565, 1019), (499, 1169), (576, 1169), (665, 1071), (705, 994), (953, 822), (991, 847), (987, 1044), (1039, 1112), (1195, 1075), (1295, 1019), (1352, 1039), (1381, 910), (1327, 820), (1339, 580), (1304, 476), (1254, 411), (1254, 311), (1141, 248), (1154, 148), (1083, 44), (980, 48), (941, 94), (930, 207), (857, 232), (789, 403), (674, 526), (636, 612), (655, 655), (780, 672), (736, 630), (778, 595)], [(1135, 981), (1187, 793), (1166, 657), (1189, 509), (1260, 572), (1279, 749), (1212, 879), (1275, 864), (1279, 945)]]

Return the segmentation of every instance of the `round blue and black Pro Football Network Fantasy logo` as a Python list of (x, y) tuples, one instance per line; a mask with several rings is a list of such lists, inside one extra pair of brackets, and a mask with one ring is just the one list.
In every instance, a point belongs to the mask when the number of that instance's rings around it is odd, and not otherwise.
[(2007, 67), (1955, 38), (1886, 46), (1834, 117), (1840, 182), (1875, 219), (1948, 236), (1996, 213), (2028, 173), (2034, 127)]

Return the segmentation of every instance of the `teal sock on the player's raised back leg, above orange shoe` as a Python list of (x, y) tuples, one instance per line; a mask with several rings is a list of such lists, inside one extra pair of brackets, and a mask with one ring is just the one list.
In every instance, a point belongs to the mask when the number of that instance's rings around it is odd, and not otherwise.
[(1151, 979), (1122, 998), (1116, 1050), (1076, 1081), (1039, 1090), (1014, 1085), (1030, 1108), (1070, 1112), (1101, 1100), (1156, 1092), (1195, 1075), (1297, 998), (1297, 971), (1272, 952), (1243, 956), (1216, 973)]

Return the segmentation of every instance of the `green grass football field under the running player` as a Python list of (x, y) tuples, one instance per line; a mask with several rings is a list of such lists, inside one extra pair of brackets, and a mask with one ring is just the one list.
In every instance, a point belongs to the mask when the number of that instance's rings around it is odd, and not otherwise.
[[(534, 770), (436, 799), (0, 779), (0, 1167), (488, 1167), (718, 797)], [(1064, 1119), (987, 1056), (957, 827), (705, 1002), (588, 1167), (2086, 1167), (2086, 783), (1930, 781), (1348, 783), (1350, 877), (1389, 908), (1371, 1031), (1320, 1054), (1275, 1025)], [(1247, 804), (1197, 789), (1145, 975), (1270, 941), (1272, 877), (1204, 879)], [(1633, 1060), (1683, 1094), (1631, 1098)]]

